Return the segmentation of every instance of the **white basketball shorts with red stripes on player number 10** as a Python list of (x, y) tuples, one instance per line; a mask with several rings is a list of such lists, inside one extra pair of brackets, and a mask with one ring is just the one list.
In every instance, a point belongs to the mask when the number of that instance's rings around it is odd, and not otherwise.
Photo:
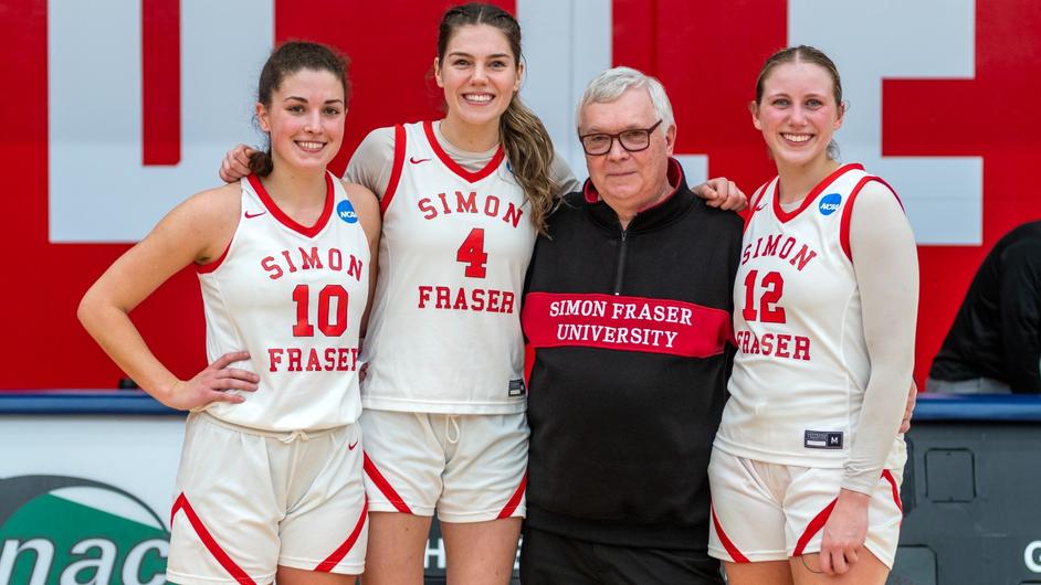
[(266, 433), (188, 416), (167, 578), (271, 583), (278, 565), (365, 570), (361, 429)]

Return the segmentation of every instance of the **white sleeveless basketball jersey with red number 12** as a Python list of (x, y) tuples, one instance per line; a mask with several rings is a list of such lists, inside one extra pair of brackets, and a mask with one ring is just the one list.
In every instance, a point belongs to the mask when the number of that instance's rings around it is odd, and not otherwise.
[[(754, 198), (734, 283), (737, 355), (715, 445), (732, 455), (842, 467), (871, 362), (849, 247), (853, 202), (881, 181), (845, 164), (786, 212), (778, 179)], [(904, 464), (897, 438), (886, 468)]]

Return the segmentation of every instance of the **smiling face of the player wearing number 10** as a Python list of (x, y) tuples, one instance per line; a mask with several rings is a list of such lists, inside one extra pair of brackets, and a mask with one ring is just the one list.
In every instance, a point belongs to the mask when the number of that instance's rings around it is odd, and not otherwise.
[(297, 71), (282, 79), (270, 106), (256, 104), (256, 118), (271, 136), (276, 169), (324, 170), (344, 140), (344, 84), (328, 71)]

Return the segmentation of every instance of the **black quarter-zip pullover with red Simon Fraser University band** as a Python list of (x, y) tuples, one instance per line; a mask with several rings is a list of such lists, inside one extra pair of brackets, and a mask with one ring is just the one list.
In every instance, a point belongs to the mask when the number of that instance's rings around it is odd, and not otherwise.
[(622, 228), (587, 182), (539, 236), (527, 522), (622, 546), (705, 549), (708, 456), (733, 359), (742, 220), (675, 191)]

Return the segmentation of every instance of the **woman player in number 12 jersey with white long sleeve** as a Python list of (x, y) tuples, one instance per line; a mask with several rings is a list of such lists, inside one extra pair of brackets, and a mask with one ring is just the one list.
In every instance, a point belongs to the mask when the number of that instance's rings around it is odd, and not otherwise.
[(902, 517), (914, 236), (884, 181), (835, 159), (845, 105), (823, 53), (772, 55), (750, 109), (778, 177), (751, 196), (735, 283), (709, 552), (735, 584), (882, 584)]

